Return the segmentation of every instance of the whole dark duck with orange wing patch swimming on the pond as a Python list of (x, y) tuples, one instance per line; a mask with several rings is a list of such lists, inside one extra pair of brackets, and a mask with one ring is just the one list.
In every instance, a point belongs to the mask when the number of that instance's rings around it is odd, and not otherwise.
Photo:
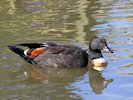
[[(22, 49), (21, 47), (28, 49)], [(89, 63), (94, 66), (103, 66), (107, 61), (102, 55), (102, 50), (113, 53), (104, 38), (94, 36), (89, 42), (89, 52), (75, 46), (55, 42), (46, 43), (21, 43), (8, 45), (8, 48), (19, 55), (25, 62), (40, 67), (86, 67)]]

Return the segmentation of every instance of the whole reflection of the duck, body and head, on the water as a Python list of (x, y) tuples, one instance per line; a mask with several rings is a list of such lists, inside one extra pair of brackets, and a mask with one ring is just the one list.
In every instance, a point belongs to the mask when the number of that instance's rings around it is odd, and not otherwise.
[(51, 67), (37, 68), (36, 66), (35, 67), (26, 66), (24, 67), (25, 70), (24, 73), (29, 81), (33, 79), (41, 80), (46, 84), (60, 84), (61, 86), (64, 87), (77, 82), (75, 81), (76, 79), (80, 78), (81, 80), (78, 81), (82, 81), (82, 77), (84, 77), (84, 75), (88, 73), (89, 77), (88, 83), (90, 83), (93, 92), (96, 94), (102, 94), (102, 90), (105, 89), (108, 86), (108, 84), (113, 81), (113, 79), (106, 80), (102, 76), (102, 72), (93, 69), (92, 66), (91, 67), (89, 66), (89, 70), (87, 69), (88, 67), (67, 69), (67, 68), (51, 68)]

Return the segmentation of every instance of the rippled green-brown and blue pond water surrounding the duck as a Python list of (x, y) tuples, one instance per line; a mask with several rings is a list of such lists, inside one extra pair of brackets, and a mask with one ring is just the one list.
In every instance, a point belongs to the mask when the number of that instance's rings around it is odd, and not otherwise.
[[(133, 100), (133, 0), (0, 0), (1, 100)], [(55, 41), (86, 49), (95, 35), (113, 54), (93, 69), (39, 68), (6, 45)], [(24, 73), (27, 72), (27, 75)]]

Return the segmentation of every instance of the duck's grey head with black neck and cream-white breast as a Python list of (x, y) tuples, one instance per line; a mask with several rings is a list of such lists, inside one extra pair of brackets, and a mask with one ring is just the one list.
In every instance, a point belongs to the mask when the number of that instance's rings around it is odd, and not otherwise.
[(93, 37), (89, 42), (89, 58), (94, 65), (94, 69), (99, 71), (107, 66), (107, 62), (101, 53), (102, 50), (113, 53), (104, 38)]

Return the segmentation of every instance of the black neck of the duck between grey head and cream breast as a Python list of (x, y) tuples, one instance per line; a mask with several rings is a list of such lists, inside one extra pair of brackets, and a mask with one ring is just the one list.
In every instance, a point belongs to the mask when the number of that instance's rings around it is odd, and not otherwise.
[(89, 58), (91, 60), (94, 60), (94, 59), (98, 59), (98, 58), (103, 58), (103, 55), (100, 50), (94, 51), (94, 50), (89, 49)]

